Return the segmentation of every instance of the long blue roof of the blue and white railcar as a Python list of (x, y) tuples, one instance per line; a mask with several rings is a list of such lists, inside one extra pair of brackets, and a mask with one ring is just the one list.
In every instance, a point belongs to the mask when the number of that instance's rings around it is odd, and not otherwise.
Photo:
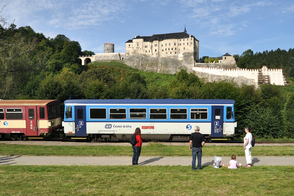
[(66, 100), (67, 105), (234, 105), (234, 100), (220, 99), (95, 99)]

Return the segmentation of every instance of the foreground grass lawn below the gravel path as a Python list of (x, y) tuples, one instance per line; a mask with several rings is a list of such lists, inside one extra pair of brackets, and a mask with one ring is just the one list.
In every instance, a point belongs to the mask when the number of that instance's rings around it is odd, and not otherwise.
[(0, 195), (293, 195), (294, 166), (0, 167)]

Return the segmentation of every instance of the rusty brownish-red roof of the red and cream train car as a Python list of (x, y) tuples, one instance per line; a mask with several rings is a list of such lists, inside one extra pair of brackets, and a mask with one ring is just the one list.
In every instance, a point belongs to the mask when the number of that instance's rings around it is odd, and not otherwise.
[(59, 100), (0, 100), (0, 106), (31, 106), (31, 105), (47, 105), (60, 104)]

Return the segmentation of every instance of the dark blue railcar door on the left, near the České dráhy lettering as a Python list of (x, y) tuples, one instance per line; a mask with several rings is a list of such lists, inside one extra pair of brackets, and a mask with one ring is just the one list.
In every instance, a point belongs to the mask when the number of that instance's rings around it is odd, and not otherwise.
[(76, 136), (87, 136), (86, 132), (86, 106), (74, 107), (75, 133)]

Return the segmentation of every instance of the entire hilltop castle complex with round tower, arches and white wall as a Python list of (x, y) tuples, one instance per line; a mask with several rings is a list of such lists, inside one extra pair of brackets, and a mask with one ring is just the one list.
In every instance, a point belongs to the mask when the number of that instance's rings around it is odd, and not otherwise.
[(143, 71), (175, 74), (181, 69), (195, 72), (206, 81), (233, 80), (238, 85), (287, 85), (281, 69), (247, 70), (236, 67), (232, 54), (224, 54), (218, 62), (199, 62), (199, 41), (184, 32), (135, 36), (125, 42), (126, 53), (114, 52), (114, 43), (104, 43), (104, 53), (80, 56), (82, 65), (89, 61), (119, 61)]

